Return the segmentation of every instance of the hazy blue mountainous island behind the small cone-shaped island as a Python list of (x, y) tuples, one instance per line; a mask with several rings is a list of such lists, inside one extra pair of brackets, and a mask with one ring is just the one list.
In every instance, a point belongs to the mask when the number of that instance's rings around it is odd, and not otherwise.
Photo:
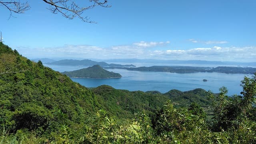
[(100, 65), (102, 67), (135, 67), (132, 64), (129, 65), (122, 65), (122, 64), (108, 64), (106, 62), (96, 62), (92, 60), (59, 60), (55, 62), (46, 62), (45, 64), (50, 65), (62, 65), (62, 66), (94, 66)]

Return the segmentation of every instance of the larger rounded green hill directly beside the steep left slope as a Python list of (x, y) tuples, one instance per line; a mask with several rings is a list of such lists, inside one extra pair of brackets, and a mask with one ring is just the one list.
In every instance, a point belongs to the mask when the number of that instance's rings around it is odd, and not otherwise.
[(104, 109), (109, 110), (114, 116), (122, 118), (131, 118), (135, 112), (140, 112), (143, 109), (147, 114), (154, 115), (168, 101), (168, 97), (162, 94), (117, 90), (107, 85), (98, 86), (92, 90), (99, 96), (99, 99), (101, 98), (99, 103)]

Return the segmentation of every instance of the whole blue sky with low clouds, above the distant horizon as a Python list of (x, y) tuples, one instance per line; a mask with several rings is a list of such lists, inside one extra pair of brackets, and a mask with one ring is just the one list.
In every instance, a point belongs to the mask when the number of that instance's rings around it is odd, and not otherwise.
[(9, 20), (0, 6), (4, 43), (28, 58), (256, 62), (255, 0), (108, 0), (111, 8), (83, 14), (97, 24), (28, 2), (30, 10)]

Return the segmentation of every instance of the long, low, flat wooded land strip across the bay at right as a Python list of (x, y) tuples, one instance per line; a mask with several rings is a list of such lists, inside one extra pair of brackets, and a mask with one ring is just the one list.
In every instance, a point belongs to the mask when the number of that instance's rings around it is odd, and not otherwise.
[(150, 67), (138, 67), (138, 68), (126, 68), (126, 67), (109, 67), (120, 68), (126, 70), (138, 70), (138, 71), (153, 71), (153, 72), (176, 72), (176, 73), (191, 73), (191, 72), (221, 72), (226, 74), (254, 74), (256, 68), (251, 67), (228, 67), (218, 66), (216, 68), (210, 67), (193, 67), (193, 66), (150, 66)]

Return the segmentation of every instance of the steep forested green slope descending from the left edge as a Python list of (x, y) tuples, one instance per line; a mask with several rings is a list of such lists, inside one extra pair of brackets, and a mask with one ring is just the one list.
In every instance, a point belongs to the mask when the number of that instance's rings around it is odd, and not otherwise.
[(100, 105), (84, 86), (0, 43), (0, 108), (1, 127), (13, 132), (83, 123)]

